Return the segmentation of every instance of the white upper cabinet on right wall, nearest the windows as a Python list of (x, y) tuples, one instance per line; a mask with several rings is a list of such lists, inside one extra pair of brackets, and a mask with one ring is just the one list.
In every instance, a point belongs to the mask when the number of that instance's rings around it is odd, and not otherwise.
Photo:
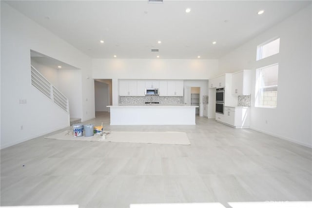
[(243, 70), (232, 74), (232, 95), (251, 94), (251, 70)]

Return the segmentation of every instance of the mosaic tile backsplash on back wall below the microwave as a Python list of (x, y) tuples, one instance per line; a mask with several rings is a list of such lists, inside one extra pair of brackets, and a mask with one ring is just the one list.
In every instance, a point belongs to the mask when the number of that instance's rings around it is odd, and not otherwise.
[(145, 102), (159, 102), (159, 104), (183, 104), (183, 96), (119, 96), (119, 104), (144, 104)]

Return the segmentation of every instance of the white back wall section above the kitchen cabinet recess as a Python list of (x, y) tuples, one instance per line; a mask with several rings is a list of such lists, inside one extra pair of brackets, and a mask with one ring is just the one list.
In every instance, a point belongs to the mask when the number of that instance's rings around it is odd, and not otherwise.
[(112, 79), (113, 105), (118, 104), (118, 79), (205, 80), (218, 73), (218, 60), (93, 59), (92, 77)]

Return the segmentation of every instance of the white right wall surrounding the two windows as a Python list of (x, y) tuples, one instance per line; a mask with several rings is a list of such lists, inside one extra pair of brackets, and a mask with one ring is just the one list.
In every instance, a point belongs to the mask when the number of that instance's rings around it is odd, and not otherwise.
[[(312, 146), (311, 10), (310, 5), (219, 60), (221, 73), (253, 70), (251, 128), (305, 146)], [(280, 53), (256, 62), (257, 45), (274, 37), (280, 37)], [(255, 69), (275, 62), (277, 108), (254, 107)]]

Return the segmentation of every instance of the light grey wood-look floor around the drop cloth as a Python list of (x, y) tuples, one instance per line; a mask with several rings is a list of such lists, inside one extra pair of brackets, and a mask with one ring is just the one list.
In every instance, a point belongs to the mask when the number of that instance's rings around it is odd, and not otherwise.
[(203, 117), (196, 125), (110, 126), (98, 112), (85, 123), (101, 122), (106, 131), (184, 131), (192, 145), (35, 138), (1, 150), (1, 206), (312, 201), (311, 148)]

